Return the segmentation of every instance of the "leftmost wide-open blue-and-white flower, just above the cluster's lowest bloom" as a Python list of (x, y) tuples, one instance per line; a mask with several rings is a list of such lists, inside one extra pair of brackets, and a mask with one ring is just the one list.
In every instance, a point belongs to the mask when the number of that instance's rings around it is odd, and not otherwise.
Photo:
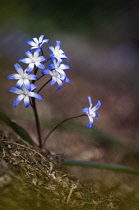
[(15, 69), (18, 72), (18, 74), (11, 74), (7, 78), (8, 79), (18, 79), (16, 83), (17, 88), (21, 88), (21, 86), (24, 84), (26, 88), (29, 90), (30, 89), (30, 82), (29, 80), (36, 80), (38, 78), (37, 75), (35, 74), (28, 74), (26, 73), (28, 71), (28, 68), (23, 70), (22, 67), (16, 63)]

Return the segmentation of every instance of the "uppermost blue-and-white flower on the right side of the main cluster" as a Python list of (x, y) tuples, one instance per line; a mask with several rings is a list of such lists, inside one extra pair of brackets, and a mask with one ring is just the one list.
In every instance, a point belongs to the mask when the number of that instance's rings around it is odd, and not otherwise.
[(58, 61), (62, 61), (64, 58), (67, 59), (67, 61), (70, 61), (70, 59), (65, 55), (64, 51), (60, 49), (61, 42), (56, 41), (55, 48), (53, 46), (48, 47), (49, 50), (52, 51), (52, 53), (49, 54), (50, 58), (56, 58)]

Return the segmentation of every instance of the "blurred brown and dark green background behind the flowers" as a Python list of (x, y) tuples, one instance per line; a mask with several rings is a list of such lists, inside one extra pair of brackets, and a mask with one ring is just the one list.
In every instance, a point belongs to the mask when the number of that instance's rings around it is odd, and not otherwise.
[[(15, 72), (14, 64), (29, 50), (27, 40), (46, 35), (50, 39), (49, 44), (43, 45), (46, 59), (47, 47), (60, 40), (61, 48), (71, 59), (72, 70), (67, 71), (71, 85), (64, 83), (57, 92), (56, 86), (48, 85), (41, 92), (43, 101), (37, 106), (43, 136), (64, 118), (82, 114), (81, 110), (88, 107), (88, 96), (94, 105), (100, 100), (102, 107), (95, 127), (86, 129), (87, 118), (67, 122), (49, 138), (47, 148), (54, 154), (64, 154), (65, 159), (138, 168), (139, 1), (14, 0), (1, 1), (0, 8), (0, 108), (36, 138), (32, 110), (24, 108), (23, 103), (13, 108), (16, 96), (7, 90), (15, 81), (6, 78)], [(40, 86), (46, 79), (36, 84)], [(113, 187), (114, 173), (91, 169), (86, 176), (86, 169), (69, 170), (87, 182), (100, 181), (103, 174), (103, 184)], [(127, 177), (121, 176), (124, 180)], [(126, 181), (126, 186), (121, 185), (121, 178), (119, 181), (115, 177), (118, 189), (122, 186), (123, 191), (135, 194), (136, 179), (128, 176)], [(95, 183), (97, 189), (100, 182)], [(139, 192), (134, 198), (139, 200)]]

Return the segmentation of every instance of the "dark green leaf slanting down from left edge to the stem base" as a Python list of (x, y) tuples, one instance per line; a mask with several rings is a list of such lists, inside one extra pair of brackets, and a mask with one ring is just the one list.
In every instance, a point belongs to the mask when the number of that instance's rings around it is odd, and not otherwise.
[(2, 111), (0, 111), (0, 119), (4, 121), (9, 127), (11, 127), (22, 139), (24, 139), (31, 145), (35, 145), (34, 141), (29, 136), (29, 134), (24, 130), (24, 128), (22, 128), (20, 125), (13, 122), (12, 120), (10, 120), (10, 118)]

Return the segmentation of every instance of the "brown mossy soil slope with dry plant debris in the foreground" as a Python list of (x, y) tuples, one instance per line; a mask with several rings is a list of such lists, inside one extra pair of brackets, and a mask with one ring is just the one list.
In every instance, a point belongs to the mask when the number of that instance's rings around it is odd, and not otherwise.
[(0, 132), (0, 209), (125, 210), (123, 202), (100, 196), (65, 172), (62, 156), (40, 153), (21, 139)]

